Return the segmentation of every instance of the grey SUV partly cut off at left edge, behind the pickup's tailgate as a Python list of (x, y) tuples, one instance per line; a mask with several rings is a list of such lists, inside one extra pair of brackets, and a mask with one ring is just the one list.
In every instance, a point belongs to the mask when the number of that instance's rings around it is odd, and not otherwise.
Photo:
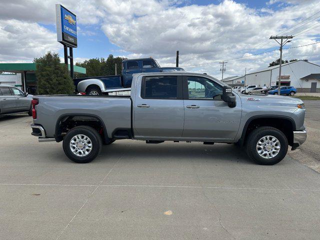
[(32, 95), (10, 85), (0, 84), (0, 115), (28, 112), (32, 115)]

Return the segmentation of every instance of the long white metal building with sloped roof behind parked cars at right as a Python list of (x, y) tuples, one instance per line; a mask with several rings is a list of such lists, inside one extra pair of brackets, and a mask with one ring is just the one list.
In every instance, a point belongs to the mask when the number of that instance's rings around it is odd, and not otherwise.
[[(294, 86), (298, 91), (320, 92), (320, 65), (304, 60), (282, 64), (281, 85)], [(278, 85), (279, 65), (266, 67), (242, 76), (223, 79), (229, 85)]]

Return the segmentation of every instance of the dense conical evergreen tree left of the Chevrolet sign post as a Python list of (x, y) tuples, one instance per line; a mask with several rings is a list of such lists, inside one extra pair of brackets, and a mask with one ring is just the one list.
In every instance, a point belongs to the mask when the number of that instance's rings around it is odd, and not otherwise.
[(33, 59), (36, 64), (35, 76), (38, 94), (70, 94), (74, 84), (67, 66), (60, 63), (58, 53), (48, 51), (39, 58)]

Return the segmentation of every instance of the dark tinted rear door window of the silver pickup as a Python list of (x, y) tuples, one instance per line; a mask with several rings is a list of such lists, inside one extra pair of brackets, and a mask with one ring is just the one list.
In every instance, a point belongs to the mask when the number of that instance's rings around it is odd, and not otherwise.
[(176, 76), (147, 76), (142, 81), (142, 98), (176, 99)]

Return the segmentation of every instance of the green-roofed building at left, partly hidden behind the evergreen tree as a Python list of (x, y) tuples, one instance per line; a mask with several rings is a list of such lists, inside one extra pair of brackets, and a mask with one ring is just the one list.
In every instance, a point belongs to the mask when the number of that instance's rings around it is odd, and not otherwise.
[[(22, 91), (37, 94), (37, 80), (35, 77), (38, 63), (0, 63), (0, 84), (16, 86)], [(63, 63), (61, 63), (63, 64)], [(68, 65), (70, 70), (70, 65)], [(84, 67), (73, 66), (74, 72), (85, 73)]]

